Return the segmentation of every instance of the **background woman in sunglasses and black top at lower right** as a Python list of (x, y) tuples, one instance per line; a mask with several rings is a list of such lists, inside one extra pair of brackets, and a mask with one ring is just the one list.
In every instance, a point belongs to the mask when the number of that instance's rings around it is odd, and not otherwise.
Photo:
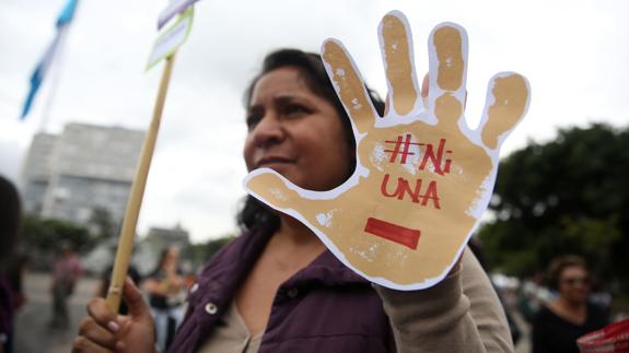
[(605, 311), (589, 303), (590, 273), (583, 258), (563, 256), (548, 270), (550, 286), (559, 297), (543, 307), (533, 320), (533, 352), (579, 352), (576, 339), (608, 323)]

